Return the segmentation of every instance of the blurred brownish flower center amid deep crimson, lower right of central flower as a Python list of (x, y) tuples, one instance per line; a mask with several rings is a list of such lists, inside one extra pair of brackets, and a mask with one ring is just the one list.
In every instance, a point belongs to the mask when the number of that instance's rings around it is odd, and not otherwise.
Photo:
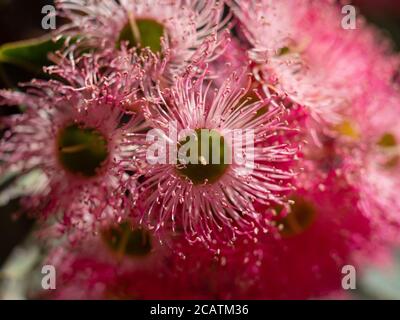
[(315, 220), (316, 212), (314, 206), (307, 200), (294, 197), (294, 203), (290, 207), (288, 215), (281, 220), (281, 235), (291, 237), (303, 233)]

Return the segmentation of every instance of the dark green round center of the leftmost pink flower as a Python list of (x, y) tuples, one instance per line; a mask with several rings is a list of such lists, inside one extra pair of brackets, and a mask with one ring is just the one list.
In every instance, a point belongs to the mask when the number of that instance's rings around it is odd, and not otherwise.
[(62, 129), (57, 139), (58, 159), (70, 173), (93, 177), (108, 158), (107, 141), (97, 130), (76, 124)]

